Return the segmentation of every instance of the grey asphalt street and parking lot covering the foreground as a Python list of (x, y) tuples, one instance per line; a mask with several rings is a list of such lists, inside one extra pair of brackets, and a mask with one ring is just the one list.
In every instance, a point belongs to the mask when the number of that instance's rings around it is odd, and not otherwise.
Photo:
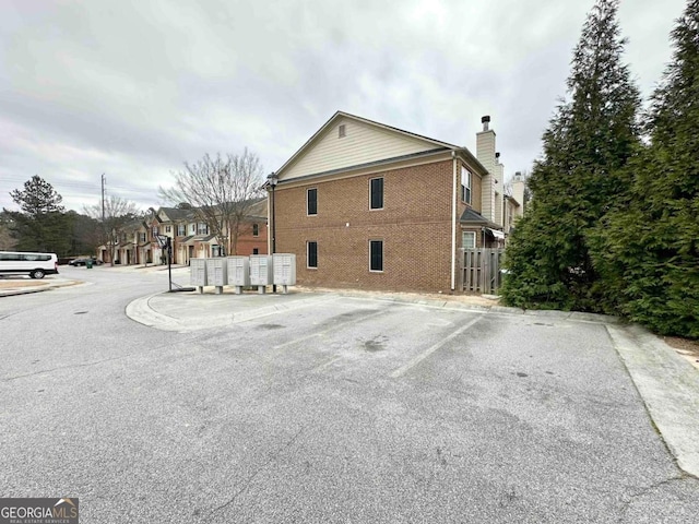
[(86, 284), (0, 298), (2, 497), (78, 497), (85, 523), (699, 514), (605, 323), (60, 276)]

